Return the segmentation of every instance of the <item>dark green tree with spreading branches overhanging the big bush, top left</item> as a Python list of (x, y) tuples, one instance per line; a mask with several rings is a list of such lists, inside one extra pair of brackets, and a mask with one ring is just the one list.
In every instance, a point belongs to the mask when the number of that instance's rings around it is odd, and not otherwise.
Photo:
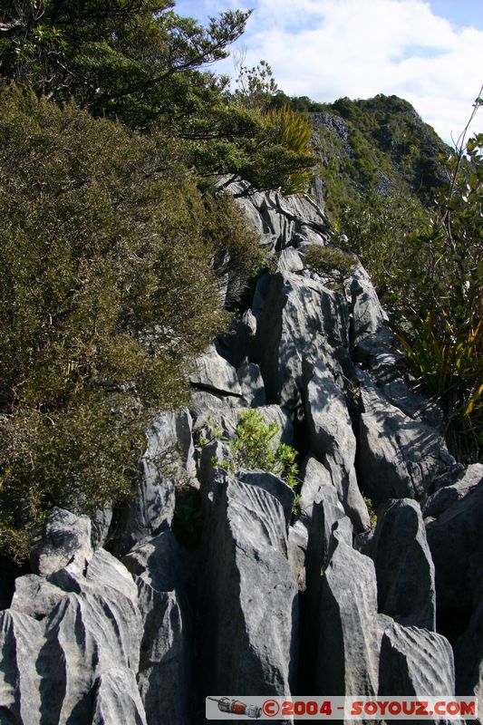
[(205, 28), (179, 17), (173, 5), (7, 2), (0, 11), (1, 73), (56, 102), (73, 97), (94, 116), (163, 129), (183, 140), (187, 164), (204, 177), (245, 174), (255, 186), (283, 187), (290, 172), (314, 166), (304, 151), (279, 142), (280, 124), (230, 98), (227, 80), (207, 70), (227, 56), (250, 13), (222, 13)]

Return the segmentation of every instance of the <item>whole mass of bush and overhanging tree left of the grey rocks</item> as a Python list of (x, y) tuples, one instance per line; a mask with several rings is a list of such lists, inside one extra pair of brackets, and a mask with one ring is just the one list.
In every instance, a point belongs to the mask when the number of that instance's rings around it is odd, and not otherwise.
[(53, 504), (132, 494), (150, 411), (185, 400), (188, 361), (264, 265), (217, 175), (293, 192), (314, 166), (305, 121), (207, 70), (249, 13), (203, 27), (173, 6), (0, 9), (0, 553), (17, 559)]

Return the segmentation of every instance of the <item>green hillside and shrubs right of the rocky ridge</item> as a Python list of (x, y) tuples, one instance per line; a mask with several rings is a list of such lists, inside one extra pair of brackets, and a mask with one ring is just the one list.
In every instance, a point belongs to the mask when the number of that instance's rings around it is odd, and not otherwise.
[(372, 275), (416, 387), (440, 402), (449, 449), (482, 459), (483, 135), (452, 151), (384, 96), (316, 109), (314, 127), (333, 226)]

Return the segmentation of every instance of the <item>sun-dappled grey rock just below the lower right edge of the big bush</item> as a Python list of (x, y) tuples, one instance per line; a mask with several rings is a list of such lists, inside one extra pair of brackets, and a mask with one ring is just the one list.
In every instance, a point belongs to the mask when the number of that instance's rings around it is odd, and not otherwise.
[(111, 550), (117, 555), (170, 524), (176, 484), (196, 476), (191, 427), (188, 410), (160, 413), (152, 422), (137, 496), (121, 509), (111, 530)]

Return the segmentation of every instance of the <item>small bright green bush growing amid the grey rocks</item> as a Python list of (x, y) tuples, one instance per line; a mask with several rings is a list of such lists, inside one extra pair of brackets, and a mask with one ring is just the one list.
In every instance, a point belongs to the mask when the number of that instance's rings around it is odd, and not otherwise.
[(236, 437), (228, 441), (229, 459), (215, 460), (216, 465), (236, 473), (239, 469), (259, 469), (275, 473), (295, 488), (298, 466), (296, 450), (286, 443), (273, 445), (280, 429), (277, 423), (267, 423), (255, 408), (249, 408), (238, 417)]

